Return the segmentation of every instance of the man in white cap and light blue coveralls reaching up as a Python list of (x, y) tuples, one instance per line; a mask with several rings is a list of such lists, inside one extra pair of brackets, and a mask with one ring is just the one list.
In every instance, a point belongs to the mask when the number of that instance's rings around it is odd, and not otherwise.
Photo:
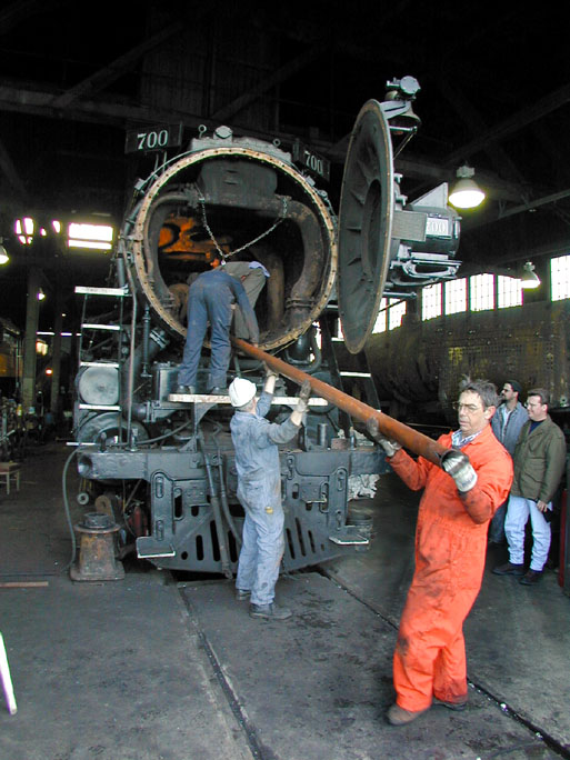
[(306, 380), (291, 416), (281, 424), (269, 422), (264, 417), (277, 377), (268, 370), (259, 400), (256, 386), (244, 378), (236, 378), (229, 389), (231, 406), (236, 409), (230, 429), (236, 449), (238, 499), (246, 511), (236, 597), (239, 601), (251, 598), (249, 613), (262, 620), (291, 617), (291, 610), (273, 601), (284, 550), (278, 444), (297, 436), (311, 394), (310, 382)]

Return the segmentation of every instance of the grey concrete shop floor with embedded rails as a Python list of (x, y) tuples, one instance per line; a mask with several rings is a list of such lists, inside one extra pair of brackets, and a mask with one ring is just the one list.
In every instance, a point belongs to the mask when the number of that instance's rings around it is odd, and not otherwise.
[(0, 582), (47, 582), (0, 588), (18, 701), (16, 716), (0, 701), (2, 760), (570, 758), (570, 599), (553, 572), (530, 588), (492, 576), (503, 549), (466, 623), (468, 709), (386, 723), (418, 504), (394, 476), (360, 502), (371, 550), (281, 578), (294, 617), (263, 623), (224, 579), (129, 564), (121, 581), (72, 582), (69, 453), (32, 450), (20, 492), (0, 493)]

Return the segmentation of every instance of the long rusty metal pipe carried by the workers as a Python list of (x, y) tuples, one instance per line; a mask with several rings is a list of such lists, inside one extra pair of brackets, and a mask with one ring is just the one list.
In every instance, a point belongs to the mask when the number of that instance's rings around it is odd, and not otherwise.
[(386, 436), (386, 438), (396, 440), (409, 451), (413, 451), (413, 453), (428, 459), (430, 462), (441, 466), (441, 458), (447, 451), (449, 451), (449, 449), (446, 449), (437, 441), (428, 438), (428, 436), (424, 436), (423, 433), (409, 428), (407, 424), (403, 424), (403, 422), (399, 422), (392, 417), (389, 417), (388, 414), (369, 407), (368, 403), (363, 403), (358, 399), (353, 399), (351, 396), (348, 396), (348, 393), (343, 393), (342, 391), (338, 390), (338, 388), (333, 388), (332, 386), (329, 386), (329, 383), (323, 382), (318, 378), (313, 378), (311, 374), (307, 374), (307, 372), (297, 369), (297, 367), (288, 364), (282, 359), (278, 359), (270, 353), (266, 353), (266, 351), (251, 346), (251, 343), (248, 343), (240, 338), (232, 338), (231, 341), (237, 348), (241, 349), (248, 356), (253, 357), (259, 361), (264, 361), (266, 364), (271, 367), (271, 369), (274, 369), (276, 372), (283, 374), (286, 378), (297, 382), (299, 386), (308, 380), (311, 383), (312, 391), (316, 396), (327, 399), (327, 401), (330, 401), (330, 403), (334, 404), (339, 409), (342, 409), (347, 412), (347, 414), (350, 414), (350, 417), (354, 417), (364, 423), (367, 423), (370, 419), (377, 420), (378, 428), (380, 432)]

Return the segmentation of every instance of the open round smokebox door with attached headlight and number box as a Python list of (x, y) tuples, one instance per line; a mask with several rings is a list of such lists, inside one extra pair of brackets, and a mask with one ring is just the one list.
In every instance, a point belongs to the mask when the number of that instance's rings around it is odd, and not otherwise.
[(448, 206), (447, 183), (408, 203), (394, 172), (394, 146), (399, 152), (418, 127), (410, 101), (369, 100), (352, 129), (338, 277), (339, 316), (351, 353), (364, 348), (383, 297), (414, 299), (419, 287), (453, 279), (461, 263), (454, 260), (460, 218)]

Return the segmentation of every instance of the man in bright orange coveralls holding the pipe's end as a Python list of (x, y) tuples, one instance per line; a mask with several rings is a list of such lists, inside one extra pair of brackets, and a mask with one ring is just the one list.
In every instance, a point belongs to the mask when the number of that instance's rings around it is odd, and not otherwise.
[(459, 430), (439, 438), (452, 448), (442, 468), (409, 457), (396, 441), (369, 430), (412, 490), (424, 488), (416, 531), (416, 572), (400, 620), (393, 656), (392, 726), (414, 720), (433, 704), (463, 710), (467, 663), (463, 621), (481, 588), (487, 528), (504, 502), (512, 461), (489, 424), (497, 389), (486, 380), (460, 387)]

